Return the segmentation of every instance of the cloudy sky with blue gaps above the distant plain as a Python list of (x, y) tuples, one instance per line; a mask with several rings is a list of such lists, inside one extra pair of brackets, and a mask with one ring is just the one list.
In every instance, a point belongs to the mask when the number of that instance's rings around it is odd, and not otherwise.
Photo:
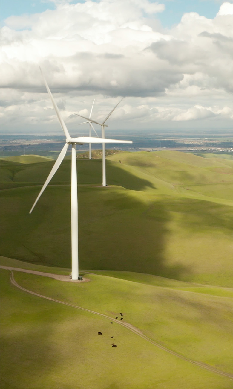
[(110, 131), (231, 128), (232, 15), (218, 0), (1, 0), (2, 133), (60, 133), (39, 65), (72, 135), (75, 112), (95, 98), (100, 121), (122, 96)]

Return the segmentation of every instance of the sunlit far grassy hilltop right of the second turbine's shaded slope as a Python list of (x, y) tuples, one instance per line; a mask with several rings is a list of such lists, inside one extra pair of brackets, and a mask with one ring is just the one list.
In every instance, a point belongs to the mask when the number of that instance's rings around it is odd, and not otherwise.
[[(160, 186), (160, 181), (172, 185), (173, 191), (182, 196), (210, 196), (226, 200), (232, 199), (232, 163), (227, 159), (202, 158), (191, 153), (178, 151), (159, 152), (125, 152), (109, 156), (111, 161), (120, 161), (127, 166), (134, 166), (139, 171), (151, 176), (154, 182)], [(225, 183), (227, 191), (215, 194), (215, 187)], [(202, 185), (209, 184), (209, 191), (202, 191)], [(156, 185), (156, 184), (155, 184)], [(198, 190), (196, 190), (198, 186)], [(198, 192), (197, 193), (193, 193)], [(213, 194), (212, 194), (213, 193)]]

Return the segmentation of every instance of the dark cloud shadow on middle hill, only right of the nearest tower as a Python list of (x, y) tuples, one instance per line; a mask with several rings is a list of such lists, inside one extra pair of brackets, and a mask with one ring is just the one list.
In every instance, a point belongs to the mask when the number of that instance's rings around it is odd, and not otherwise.
[[(85, 198), (88, 201), (86, 195)], [(93, 200), (89, 209), (85, 207), (85, 215), (84, 209), (80, 210), (82, 268), (149, 273), (174, 279), (190, 275), (190, 267), (179, 263), (171, 266), (165, 258), (170, 214), (162, 202), (148, 205), (117, 191), (114, 199), (103, 197), (101, 202), (103, 205), (96, 212), (97, 203)]]

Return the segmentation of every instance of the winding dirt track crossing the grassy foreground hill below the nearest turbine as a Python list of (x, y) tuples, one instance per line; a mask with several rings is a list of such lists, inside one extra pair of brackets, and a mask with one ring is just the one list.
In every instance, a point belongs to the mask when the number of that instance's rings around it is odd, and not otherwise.
[[(159, 347), (160, 349), (164, 350), (164, 351), (167, 351), (169, 352), (169, 354), (172, 354), (178, 358), (181, 358), (183, 359), (184, 361), (186, 362), (190, 362), (192, 364), (195, 364), (196, 366), (199, 366), (203, 369), (206, 369), (206, 370), (209, 370), (209, 371), (212, 371), (213, 373), (217, 373), (217, 374), (220, 374), (220, 375), (223, 375), (225, 377), (229, 377), (229, 378), (233, 378), (233, 376), (229, 373), (226, 373), (224, 371), (221, 371), (221, 370), (217, 370), (216, 368), (214, 368), (213, 366), (210, 366), (208, 364), (205, 364), (205, 363), (202, 363), (202, 362), (198, 362), (198, 361), (193, 361), (192, 359), (189, 359), (189, 358), (186, 358), (184, 357), (183, 355), (181, 354), (178, 354), (177, 352), (174, 352), (172, 350), (169, 350), (167, 349), (166, 347), (160, 345), (159, 343), (155, 342), (154, 340), (148, 338), (147, 336), (143, 335), (143, 333), (141, 333), (141, 331), (135, 327), (133, 327), (131, 324), (129, 323), (126, 323), (126, 322), (119, 322), (118, 320), (116, 319), (113, 319), (112, 317), (110, 316), (107, 316), (107, 315), (104, 315), (104, 314), (101, 314), (99, 312), (95, 312), (95, 311), (92, 311), (90, 309), (86, 309), (86, 308), (82, 308), (82, 307), (78, 307), (77, 305), (72, 305), (72, 304), (69, 304), (69, 303), (64, 303), (63, 301), (59, 301), (59, 300), (56, 300), (56, 299), (53, 299), (53, 298), (50, 298), (50, 297), (47, 297), (47, 296), (43, 296), (42, 294), (38, 294), (38, 293), (35, 293), (33, 291), (30, 291), (28, 289), (25, 289), (24, 287), (20, 286), (19, 284), (17, 284), (16, 280), (14, 279), (14, 274), (13, 274), (13, 271), (12, 271), (12, 268), (10, 268), (9, 266), (1, 266), (1, 268), (7, 268), (8, 270), (11, 270), (11, 273), (10, 273), (10, 282), (16, 286), (17, 288), (23, 290), (24, 292), (27, 292), (27, 293), (30, 293), (30, 294), (33, 294), (34, 296), (38, 296), (38, 297), (41, 297), (41, 298), (45, 298), (47, 300), (50, 300), (50, 301), (55, 301), (56, 303), (60, 303), (60, 304), (64, 304), (64, 305), (68, 305), (69, 307), (72, 307), (72, 308), (77, 308), (77, 309), (82, 309), (83, 311), (86, 311), (86, 312), (90, 312), (94, 315), (99, 315), (99, 316), (102, 316), (102, 317), (105, 317), (106, 319), (109, 319), (111, 321), (114, 321), (116, 322), (117, 324), (119, 324), (120, 326), (123, 326), (127, 329), (129, 329), (130, 331), (134, 332), (136, 335), (138, 336), (141, 336), (141, 338), (143, 338), (144, 340), (147, 340), (148, 342), (154, 344), (156, 347)], [(15, 269), (14, 269), (15, 270)], [(26, 272), (26, 273), (40, 273), (40, 275), (44, 275), (44, 276), (47, 276), (47, 274), (49, 273), (42, 273), (42, 272), (34, 272), (33, 270), (26, 270), (26, 269), (17, 269), (17, 271), (23, 271), (23, 272)], [(54, 276), (54, 275), (49, 275), (49, 277), (51, 276)], [(47, 276), (48, 277), (48, 276)], [(66, 276), (67, 277), (67, 276)], [(52, 277), (52, 278), (55, 278), (55, 277)], [(82, 281), (81, 281), (82, 282)]]

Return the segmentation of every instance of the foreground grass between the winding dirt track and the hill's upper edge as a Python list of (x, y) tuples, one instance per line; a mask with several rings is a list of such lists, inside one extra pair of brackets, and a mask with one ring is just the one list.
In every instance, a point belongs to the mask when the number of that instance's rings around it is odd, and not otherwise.
[(26, 289), (39, 294), (46, 291), (46, 296), (113, 318), (122, 312), (124, 321), (152, 340), (190, 359), (231, 372), (231, 298), (102, 275), (85, 275), (90, 282), (80, 285), (14, 273), (16, 281)]

